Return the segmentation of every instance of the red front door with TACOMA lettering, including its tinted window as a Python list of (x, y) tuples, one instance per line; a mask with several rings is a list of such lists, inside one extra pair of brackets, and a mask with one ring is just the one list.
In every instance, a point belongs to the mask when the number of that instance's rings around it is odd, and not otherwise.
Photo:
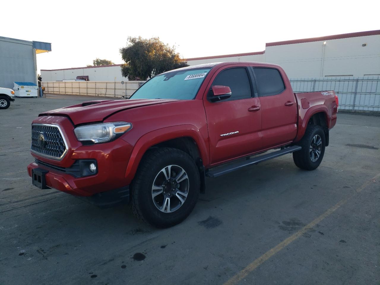
[[(229, 99), (212, 102), (211, 88), (228, 86)], [(211, 164), (244, 156), (262, 148), (260, 101), (252, 86), (252, 71), (245, 65), (221, 67), (204, 96)]]

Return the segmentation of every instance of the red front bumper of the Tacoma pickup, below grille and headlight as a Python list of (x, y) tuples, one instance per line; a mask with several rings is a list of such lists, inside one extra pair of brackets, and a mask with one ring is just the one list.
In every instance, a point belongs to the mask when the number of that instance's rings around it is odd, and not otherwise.
[[(132, 149), (133, 147), (127, 142), (116, 139), (104, 144), (79, 146), (68, 152), (62, 161), (52, 161), (32, 154), (37, 160), (30, 163), (27, 170), (30, 177), (32, 177), (33, 169), (39, 168), (47, 171), (44, 174), (47, 187), (75, 196), (89, 197), (127, 186), (125, 171)], [(76, 161), (82, 160), (96, 160), (97, 173), (78, 177), (70, 171), (65, 171), (65, 169), (72, 169), (71, 166)]]

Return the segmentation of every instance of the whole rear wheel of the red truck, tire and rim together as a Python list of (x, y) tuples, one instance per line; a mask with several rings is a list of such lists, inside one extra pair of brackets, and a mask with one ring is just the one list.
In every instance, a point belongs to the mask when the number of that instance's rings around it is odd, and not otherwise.
[(293, 160), (296, 166), (305, 170), (316, 169), (321, 164), (325, 154), (325, 132), (322, 127), (309, 125), (298, 145), (302, 149), (293, 152)]

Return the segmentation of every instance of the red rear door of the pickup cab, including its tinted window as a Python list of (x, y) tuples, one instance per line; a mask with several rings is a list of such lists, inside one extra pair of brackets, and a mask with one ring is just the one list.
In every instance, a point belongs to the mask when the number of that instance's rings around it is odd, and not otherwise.
[(264, 148), (291, 142), (297, 135), (297, 103), (289, 80), (276, 67), (253, 66), (261, 103), (261, 132)]

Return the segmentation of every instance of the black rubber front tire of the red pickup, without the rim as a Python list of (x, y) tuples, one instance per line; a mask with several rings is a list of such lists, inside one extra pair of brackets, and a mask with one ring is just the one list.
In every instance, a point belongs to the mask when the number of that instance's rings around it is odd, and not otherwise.
[[(174, 212), (161, 212), (152, 199), (152, 185), (161, 169), (178, 165), (188, 175), (188, 195), (182, 206)], [(199, 171), (195, 161), (186, 152), (170, 147), (149, 150), (142, 158), (130, 187), (130, 208), (133, 214), (157, 228), (174, 226), (187, 218), (198, 201)]]

